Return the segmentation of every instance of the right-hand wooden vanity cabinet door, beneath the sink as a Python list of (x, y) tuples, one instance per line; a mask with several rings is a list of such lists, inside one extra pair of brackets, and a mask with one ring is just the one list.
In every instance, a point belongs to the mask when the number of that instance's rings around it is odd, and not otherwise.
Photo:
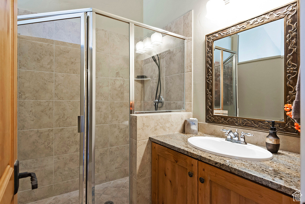
[[(201, 183), (204, 179), (204, 183)], [(198, 162), (198, 204), (289, 204), (293, 199), (233, 173)]]

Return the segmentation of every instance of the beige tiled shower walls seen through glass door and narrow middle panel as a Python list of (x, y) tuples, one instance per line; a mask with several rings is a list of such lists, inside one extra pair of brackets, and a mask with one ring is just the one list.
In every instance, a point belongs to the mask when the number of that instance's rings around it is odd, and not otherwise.
[[(79, 184), (80, 26), (60, 20), (20, 26), (18, 159), (38, 189), (20, 180), (19, 203)], [(36, 36), (36, 37), (30, 37)], [(38, 37), (37, 37), (38, 36)], [(128, 36), (96, 29), (95, 184), (129, 175)]]

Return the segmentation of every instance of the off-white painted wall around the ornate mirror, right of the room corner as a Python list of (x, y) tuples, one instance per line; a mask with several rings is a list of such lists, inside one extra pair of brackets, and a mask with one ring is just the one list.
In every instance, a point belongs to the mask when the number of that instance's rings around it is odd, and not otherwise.
[[(289, 3), (291, 0), (230, 0), (227, 4), (231, 4), (227, 9), (228, 13), (212, 13), (212, 19), (206, 18), (207, 2), (208, 0), (143, 0), (144, 23), (160, 28), (189, 10), (194, 10), (193, 116), (198, 118), (199, 122), (205, 122), (205, 36)], [(238, 15), (232, 15), (234, 13)]]

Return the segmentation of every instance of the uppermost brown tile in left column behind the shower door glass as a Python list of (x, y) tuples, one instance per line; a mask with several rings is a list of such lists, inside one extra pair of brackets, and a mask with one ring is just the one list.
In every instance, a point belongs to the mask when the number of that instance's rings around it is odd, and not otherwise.
[(19, 69), (54, 70), (54, 45), (19, 39), (18, 52)]

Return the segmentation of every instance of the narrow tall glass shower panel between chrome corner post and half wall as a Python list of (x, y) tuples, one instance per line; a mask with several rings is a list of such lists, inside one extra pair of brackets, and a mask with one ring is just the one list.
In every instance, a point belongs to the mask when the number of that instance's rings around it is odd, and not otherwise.
[(129, 24), (90, 12), (88, 26), (87, 202), (129, 203)]

